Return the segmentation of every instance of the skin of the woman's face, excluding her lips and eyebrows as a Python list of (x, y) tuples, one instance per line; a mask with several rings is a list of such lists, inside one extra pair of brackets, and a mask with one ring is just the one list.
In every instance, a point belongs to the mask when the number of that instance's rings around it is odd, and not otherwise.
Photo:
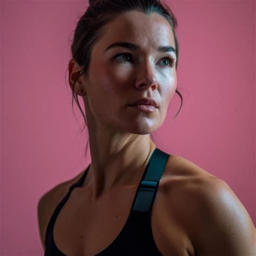
[[(111, 44), (127, 42), (138, 49)], [(146, 16), (130, 11), (104, 27), (104, 35), (93, 46), (89, 77), (84, 88), (86, 120), (89, 127), (149, 134), (163, 124), (169, 102), (177, 87), (176, 52), (158, 51), (160, 46), (175, 47), (166, 19), (156, 13)], [(122, 55), (117, 56), (122, 52)], [(153, 98), (158, 108), (146, 113), (129, 106), (134, 100)]]

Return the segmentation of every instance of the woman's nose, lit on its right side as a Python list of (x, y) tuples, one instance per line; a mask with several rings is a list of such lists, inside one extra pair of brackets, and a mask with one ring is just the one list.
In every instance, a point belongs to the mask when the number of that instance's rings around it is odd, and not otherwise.
[(156, 71), (152, 67), (152, 64), (149, 61), (146, 61), (139, 65), (138, 67), (138, 76), (135, 83), (138, 89), (146, 87), (157, 88), (157, 79)]

